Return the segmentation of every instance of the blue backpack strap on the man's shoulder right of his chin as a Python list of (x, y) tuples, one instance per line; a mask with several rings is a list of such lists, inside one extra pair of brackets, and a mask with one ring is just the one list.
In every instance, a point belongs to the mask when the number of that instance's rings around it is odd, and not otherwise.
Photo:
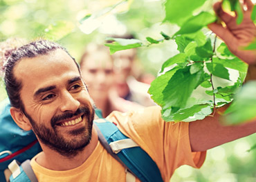
[(100, 136), (100, 134), (102, 134), (104, 139), (107, 141), (102, 142), (102, 139), (99, 138), (100, 143), (102, 143), (104, 148), (108, 148), (107, 151), (111, 154), (111, 156), (113, 156), (118, 161), (122, 161), (122, 165), (125, 165), (131, 173), (135, 174), (135, 176), (140, 179), (140, 181), (163, 181), (161, 172), (159, 171), (156, 163), (142, 148), (138, 146), (132, 148), (124, 148), (120, 150), (120, 152), (116, 152), (117, 154), (113, 153), (112, 150), (109, 150), (109, 143), (129, 138), (122, 134), (122, 132), (120, 132), (115, 124), (107, 120), (104, 121), (105, 122), (94, 121), (94, 123), (99, 129), (98, 135)]

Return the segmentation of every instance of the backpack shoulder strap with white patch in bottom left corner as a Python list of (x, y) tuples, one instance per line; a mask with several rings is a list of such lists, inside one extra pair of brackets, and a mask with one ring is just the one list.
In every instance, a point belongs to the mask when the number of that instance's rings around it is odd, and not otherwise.
[(21, 165), (13, 160), (8, 168), (12, 172), (10, 182), (38, 182), (37, 177), (30, 165), (30, 160), (26, 160)]

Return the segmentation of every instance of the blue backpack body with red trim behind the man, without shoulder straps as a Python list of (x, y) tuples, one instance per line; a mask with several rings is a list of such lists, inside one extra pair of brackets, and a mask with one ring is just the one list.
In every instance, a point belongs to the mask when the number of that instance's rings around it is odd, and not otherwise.
[(4, 171), (13, 160), (31, 159), (42, 151), (35, 134), (24, 131), (10, 116), (10, 101), (0, 103), (0, 181), (6, 181)]

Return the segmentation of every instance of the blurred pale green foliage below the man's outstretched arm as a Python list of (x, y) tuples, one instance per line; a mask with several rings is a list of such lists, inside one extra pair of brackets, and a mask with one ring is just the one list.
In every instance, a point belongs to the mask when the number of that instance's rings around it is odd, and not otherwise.
[(256, 181), (255, 134), (208, 150), (198, 170), (183, 165), (172, 176), (172, 182), (254, 182)]

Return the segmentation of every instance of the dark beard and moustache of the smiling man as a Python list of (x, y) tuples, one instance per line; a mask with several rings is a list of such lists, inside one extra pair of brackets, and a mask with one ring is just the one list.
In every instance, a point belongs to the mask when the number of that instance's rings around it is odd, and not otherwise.
[[(60, 132), (57, 130), (57, 128), (60, 129), (60, 127), (57, 127), (55, 123), (72, 118), (78, 114), (82, 114), (82, 119), (86, 117), (86, 125), (83, 128), (68, 132), (73, 138), (67, 141), (60, 135)], [(33, 127), (33, 132), (35, 132), (39, 141), (47, 145), (48, 148), (62, 154), (62, 156), (72, 157), (76, 156), (90, 143), (94, 114), (95, 110), (93, 108), (92, 110), (89, 110), (89, 108), (78, 108), (75, 113), (68, 112), (53, 117), (51, 119), (51, 128), (47, 128), (46, 125), (38, 125), (28, 114), (26, 114), (26, 117), (29, 119)]]

